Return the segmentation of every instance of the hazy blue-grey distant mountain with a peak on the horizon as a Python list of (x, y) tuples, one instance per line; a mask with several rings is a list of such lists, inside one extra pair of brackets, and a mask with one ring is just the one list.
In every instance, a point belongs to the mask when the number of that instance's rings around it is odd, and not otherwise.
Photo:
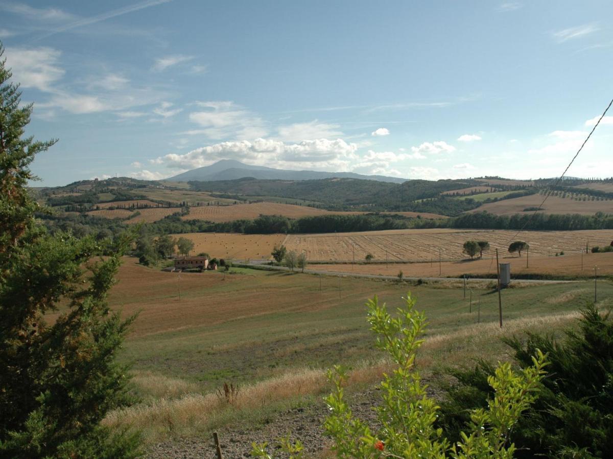
[(200, 167), (166, 179), (170, 182), (216, 182), (253, 177), (260, 180), (318, 180), (318, 179), (362, 179), (379, 182), (403, 183), (406, 179), (381, 175), (362, 175), (352, 172), (290, 171), (264, 166), (251, 166), (240, 161), (223, 159), (210, 166)]

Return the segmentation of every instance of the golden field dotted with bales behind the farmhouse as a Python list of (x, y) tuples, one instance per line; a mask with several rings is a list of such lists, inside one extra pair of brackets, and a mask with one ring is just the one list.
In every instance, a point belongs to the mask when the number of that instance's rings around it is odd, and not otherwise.
[(268, 259), (275, 244), (283, 242), (285, 234), (186, 233), (194, 242), (192, 253), (207, 252), (216, 258)]

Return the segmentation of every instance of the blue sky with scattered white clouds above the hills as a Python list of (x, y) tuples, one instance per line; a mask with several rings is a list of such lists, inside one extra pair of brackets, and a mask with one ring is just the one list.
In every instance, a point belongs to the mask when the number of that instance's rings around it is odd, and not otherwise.
[[(0, 0), (55, 186), (235, 159), (560, 176), (613, 97), (613, 2)], [(613, 176), (613, 108), (568, 176)]]

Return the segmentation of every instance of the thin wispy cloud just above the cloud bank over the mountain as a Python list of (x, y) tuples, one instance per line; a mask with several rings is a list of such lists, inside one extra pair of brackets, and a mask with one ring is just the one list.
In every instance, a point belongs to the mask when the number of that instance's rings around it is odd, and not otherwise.
[(211, 139), (234, 137), (238, 140), (253, 140), (267, 135), (264, 122), (229, 100), (197, 102), (204, 111), (189, 114), (189, 121), (204, 129), (188, 130), (186, 135), (206, 135)]

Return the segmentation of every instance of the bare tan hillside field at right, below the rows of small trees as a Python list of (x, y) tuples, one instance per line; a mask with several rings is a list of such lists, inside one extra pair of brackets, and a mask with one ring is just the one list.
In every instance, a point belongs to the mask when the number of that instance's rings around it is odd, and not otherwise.
[[(521, 214), (527, 207), (538, 207), (543, 202), (543, 195), (522, 196), (510, 200), (501, 200), (477, 207), (471, 212), (487, 211), (496, 215)], [(531, 211), (529, 211), (531, 212)], [(613, 213), (613, 201), (575, 201), (571, 198), (549, 196), (540, 211), (544, 214), (582, 214), (593, 215), (596, 212)]]

